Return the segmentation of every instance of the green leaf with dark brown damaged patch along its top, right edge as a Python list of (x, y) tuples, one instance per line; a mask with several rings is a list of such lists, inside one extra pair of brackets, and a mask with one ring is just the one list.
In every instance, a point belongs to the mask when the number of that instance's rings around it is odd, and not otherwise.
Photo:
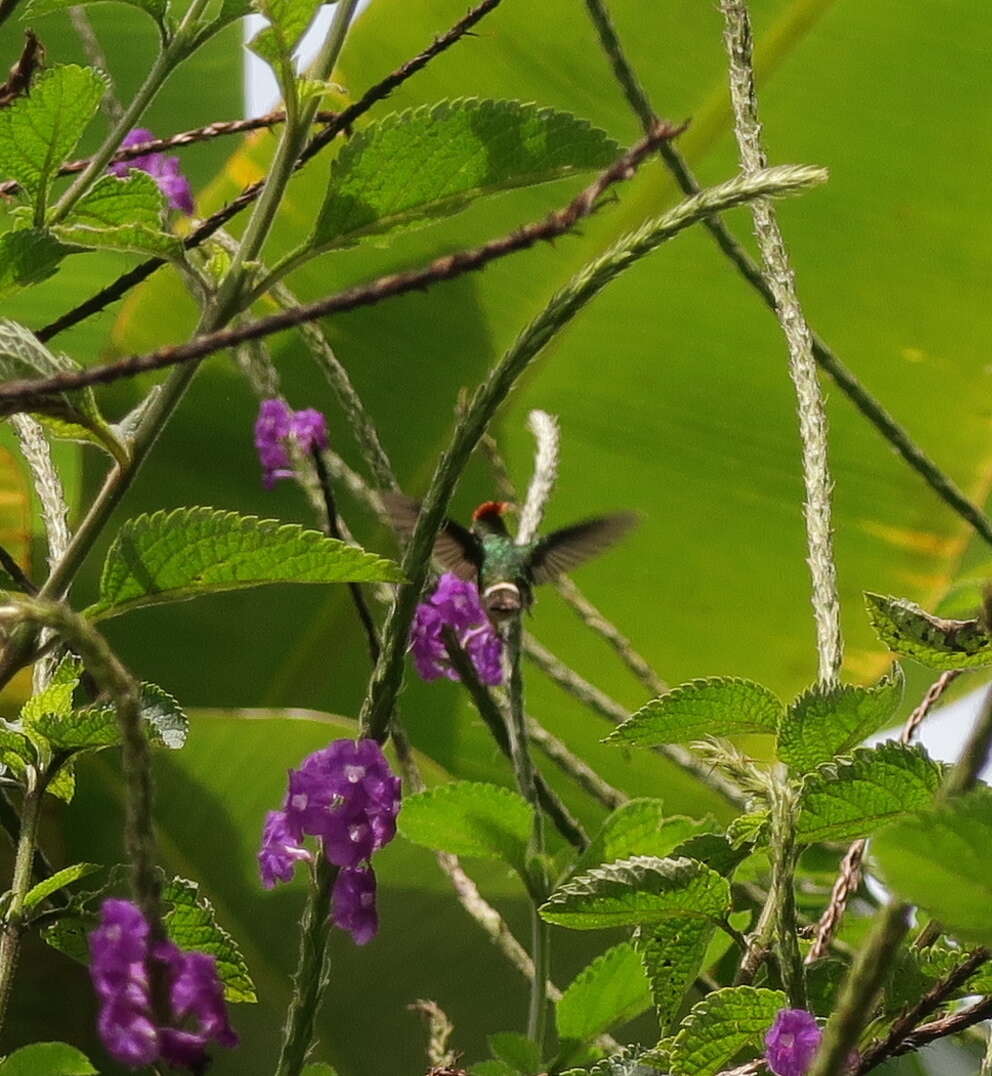
[(992, 636), (978, 620), (944, 620), (913, 601), (869, 592), (865, 604), (878, 637), (897, 654), (932, 669), (992, 665)]

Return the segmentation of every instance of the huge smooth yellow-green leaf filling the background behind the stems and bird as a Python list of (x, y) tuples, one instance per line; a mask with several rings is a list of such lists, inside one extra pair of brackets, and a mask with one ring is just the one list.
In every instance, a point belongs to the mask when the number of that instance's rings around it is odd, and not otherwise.
[[(615, 0), (612, 6), (658, 111), (692, 118), (681, 146), (700, 178), (715, 182), (733, 174), (714, 6), (698, 0)], [(966, 0), (916, 6), (896, 0), (755, 0), (753, 8), (771, 161), (831, 170), (826, 187), (780, 208), (809, 317), (941, 466), (984, 499), (992, 463), (986, 354), (992, 326), (983, 301), (992, 237), (987, 184), (978, 179), (992, 151), (992, 128), (980, 118), (984, 13)], [(357, 96), (464, 9), (464, 0), (373, 0), (345, 47), (337, 80)], [(126, 88), (141, 63), (130, 43), (145, 40), (143, 27), (132, 26), (118, 8), (99, 26)], [(65, 36), (48, 40), (59, 59), (70, 55)], [(180, 116), (186, 126), (237, 114), (240, 47), (233, 34), (198, 65), (175, 77), (150, 126), (168, 131)], [(621, 142), (638, 134), (579, 0), (547, 0), (539, 9), (505, 0), (477, 36), (403, 86), (378, 114), (462, 96), (535, 100), (584, 116)], [(201, 208), (214, 208), (257, 174), (272, 144), (263, 134), (235, 153), (223, 176), (201, 188)], [(189, 150), (184, 160), (202, 181), (225, 148), (230, 146)], [(277, 249), (311, 223), (328, 160), (317, 159), (294, 181)], [(366, 243), (327, 256), (292, 284), (302, 297), (314, 297), (417, 264), (535, 218), (577, 186), (571, 181), (501, 196), (382, 246)], [(652, 162), (579, 237), (326, 323), (411, 493), (422, 492), (450, 433), (458, 388), (479, 381), (584, 261), (675, 199), (667, 173)], [(747, 237), (746, 213), (731, 223)], [(82, 269), (63, 271), (38, 289), (31, 299), (37, 306), (18, 308), (14, 316), (40, 324), (43, 306), (51, 310), (56, 299), (60, 307), (86, 294), (119, 265), (89, 256), (87, 279)], [(167, 273), (113, 313), (117, 352), (180, 339), (192, 318), (181, 284)], [(93, 360), (107, 348), (109, 328), (103, 317), (67, 334), (62, 346)], [(290, 401), (326, 409), (337, 445), (357, 464), (299, 339), (278, 338), (273, 353)], [(961, 570), (962, 558), (979, 554), (969, 552), (961, 522), (839, 391), (828, 390), (847, 672), (866, 680), (885, 661), (868, 631), (861, 591), (933, 601)], [(133, 386), (104, 396), (112, 412), (136, 398)], [(230, 360), (212, 358), (121, 518), (207, 504), (306, 519), (295, 491), (261, 490), (251, 443), (255, 406)], [(798, 441), (784, 346), (774, 318), (705, 233), (682, 236), (611, 285), (534, 366), (496, 429), (521, 483), (530, 453), (524, 422), (534, 407), (558, 414), (563, 425), (551, 524), (614, 508), (643, 514), (623, 548), (583, 569), (579, 581), (668, 680), (747, 676), (788, 697), (813, 677)], [(87, 456), (88, 489), (102, 466), (95, 453)], [(491, 493), (480, 465), (463, 483), (456, 508), (465, 514)], [(393, 548), (357, 507), (345, 502), (345, 509), (368, 548)], [(98, 561), (80, 583), (80, 600), (94, 596)], [(604, 643), (553, 594), (542, 596), (533, 628), (626, 705), (643, 702)], [(309, 707), (353, 716), (367, 659), (352, 612), (332, 587), (268, 589), (139, 611), (108, 625), (108, 634), (143, 679), (201, 708), (185, 750), (158, 762), (162, 856), (170, 868), (202, 882), (243, 942), (259, 988), (261, 1006), (235, 1016), (244, 1047), (218, 1058), (215, 1071), (270, 1071), (302, 894), (258, 888), (257, 835), (264, 811), (281, 795), (285, 769), (341, 726), (300, 712), (290, 718), (230, 711)], [(909, 699), (923, 682), (910, 679)], [(530, 709), (549, 727), (625, 791), (662, 795), (672, 811), (723, 809), (660, 760), (599, 746), (600, 719), (537, 672), (528, 695)], [(447, 770), (509, 783), (507, 768), (453, 685), (411, 682), (401, 703), (415, 745), (439, 767), (431, 770), (436, 778)], [(100, 759), (84, 766), (80, 783), (72, 809), (52, 811), (53, 852), (67, 862), (100, 854), (112, 861), (119, 856), (121, 802), (111, 764)], [(595, 821), (595, 808), (568, 787), (563, 791), (584, 819)], [(316, 1057), (345, 1076), (423, 1072), (422, 1035), (403, 1006), (429, 996), (453, 1018), (456, 1043), (468, 1059), (478, 1059), (486, 1031), (521, 1027), (520, 983), (465, 919), (426, 853), (397, 841), (382, 864), (382, 933), (365, 950), (336, 939)], [(514, 883), (498, 870), (471, 867), (484, 892), (522, 928)], [(584, 958), (609, 944), (564, 932), (555, 937), (554, 975), (563, 983)], [(74, 979), (63, 986), (70, 975)], [(97, 1049), (87, 1030), (93, 1004), (82, 969), (69, 973), (63, 962), (32, 950), (22, 976), (38, 988), (34, 1004), (29, 989), (20, 1009), (25, 1039), (55, 1037), (45, 1020), (48, 990), (58, 982), (72, 1003), (60, 1014), (57, 1034)]]

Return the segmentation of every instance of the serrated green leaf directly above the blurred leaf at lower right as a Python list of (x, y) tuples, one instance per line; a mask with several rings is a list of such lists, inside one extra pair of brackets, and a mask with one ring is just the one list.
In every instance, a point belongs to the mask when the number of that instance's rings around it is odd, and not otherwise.
[(796, 839), (868, 837), (899, 815), (933, 803), (941, 767), (922, 747), (889, 740), (810, 774), (799, 793)]

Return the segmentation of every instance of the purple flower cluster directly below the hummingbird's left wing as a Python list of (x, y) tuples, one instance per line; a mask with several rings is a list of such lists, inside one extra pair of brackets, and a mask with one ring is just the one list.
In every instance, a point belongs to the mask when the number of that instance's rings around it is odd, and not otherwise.
[(483, 683), (502, 683), (502, 639), (482, 608), (476, 584), (450, 571), (441, 576), (434, 594), (416, 607), (410, 629), (413, 664), (424, 680), (442, 676), (458, 679), (448, 660), (441, 634), (445, 627), (454, 628)]

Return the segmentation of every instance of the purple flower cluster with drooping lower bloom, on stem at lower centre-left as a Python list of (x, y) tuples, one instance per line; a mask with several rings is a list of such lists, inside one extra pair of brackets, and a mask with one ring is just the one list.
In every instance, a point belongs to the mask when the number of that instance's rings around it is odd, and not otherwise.
[(356, 945), (379, 930), (372, 853), (396, 835), (400, 781), (379, 745), (371, 739), (335, 740), (289, 770), (282, 810), (269, 811), (258, 852), (261, 882), (271, 889), (289, 881), (302, 847), (318, 837), (327, 859), (340, 867), (331, 890), (331, 918)]

